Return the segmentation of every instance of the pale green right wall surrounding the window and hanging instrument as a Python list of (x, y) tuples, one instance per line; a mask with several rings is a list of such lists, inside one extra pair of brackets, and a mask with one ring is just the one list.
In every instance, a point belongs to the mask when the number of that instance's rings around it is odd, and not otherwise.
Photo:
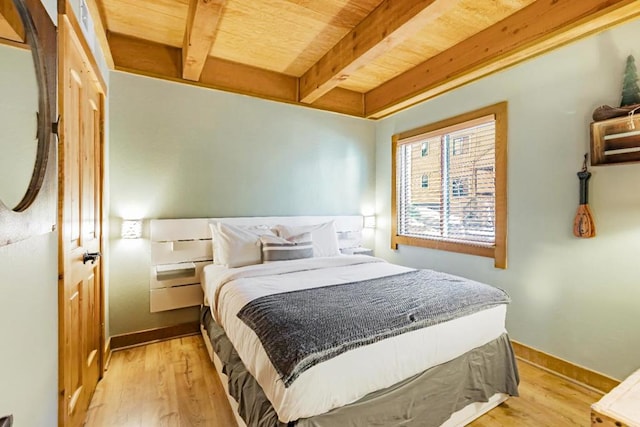
[[(376, 123), (376, 254), (504, 288), (512, 338), (617, 378), (640, 367), (640, 164), (592, 168), (598, 235), (577, 239), (572, 227), (591, 113), (619, 103), (625, 59), (640, 59), (639, 38), (635, 21)], [(392, 251), (391, 135), (503, 100), (509, 268), (429, 249)]]

